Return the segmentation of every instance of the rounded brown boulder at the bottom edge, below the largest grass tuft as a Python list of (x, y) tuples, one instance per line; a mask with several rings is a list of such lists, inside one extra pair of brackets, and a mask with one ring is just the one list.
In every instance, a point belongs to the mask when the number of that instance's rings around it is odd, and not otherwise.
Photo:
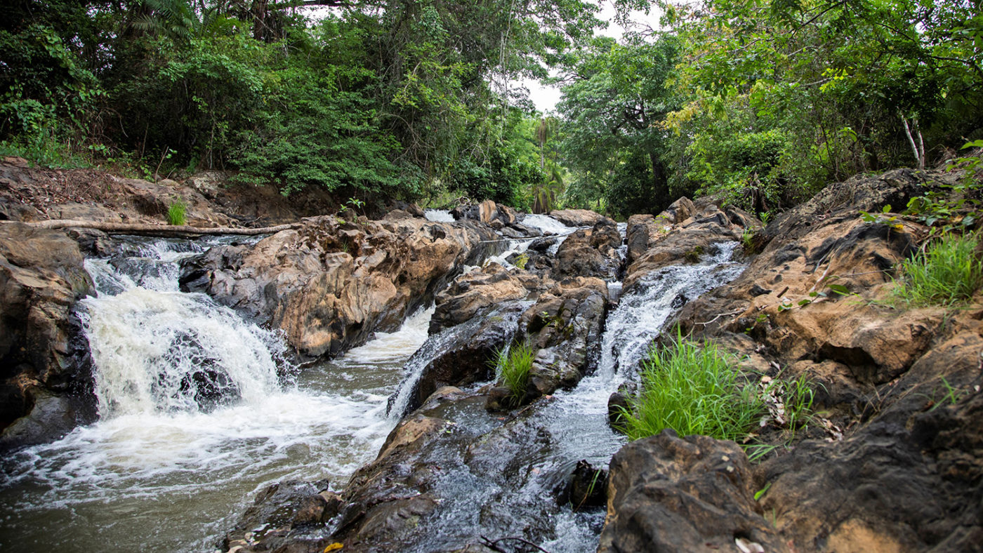
[(789, 551), (762, 516), (747, 456), (733, 442), (664, 430), (614, 454), (608, 482), (601, 553), (738, 552), (738, 538)]

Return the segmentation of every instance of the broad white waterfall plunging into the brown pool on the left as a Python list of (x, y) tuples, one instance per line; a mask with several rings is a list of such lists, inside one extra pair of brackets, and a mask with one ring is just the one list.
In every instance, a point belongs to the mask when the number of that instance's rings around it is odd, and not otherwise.
[(283, 341), (205, 295), (179, 292), (177, 261), (197, 251), (169, 244), (87, 261), (99, 295), (82, 301), (82, 320), (103, 418), (256, 403), (279, 388)]

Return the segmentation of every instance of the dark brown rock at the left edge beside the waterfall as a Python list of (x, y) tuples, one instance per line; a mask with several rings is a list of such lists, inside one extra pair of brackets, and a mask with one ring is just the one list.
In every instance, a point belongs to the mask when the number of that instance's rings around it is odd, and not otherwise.
[(0, 225), (0, 447), (50, 441), (94, 418), (87, 344), (73, 316), (92, 290), (64, 233)]

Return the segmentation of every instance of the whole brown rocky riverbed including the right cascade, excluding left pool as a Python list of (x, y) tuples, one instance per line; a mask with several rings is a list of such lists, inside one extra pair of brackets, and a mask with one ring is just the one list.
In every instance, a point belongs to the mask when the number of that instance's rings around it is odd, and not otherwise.
[[(859, 216), (905, 205), (952, 175), (896, 170), (833, 185), (767, 227), (712, 199), (680, 198), (620, 229), (596, 213), (556, 212), (569, 232), (544, 236), (533, 219), (492, 202), (454, 210), (454, 222), (411, 205), (369, 219), (311, 212), (323, 198), (304, 211), (236, 196), (203, 177), (154, 184), (21, 165), (0, 167), (6, 448), (96, 418), (78, 315), (93, 293), (84, 259), (120, 248), (98, 231), (32, 221), (151, 222), (168, 195), (187, 198), (202, 226), (306, 216), (180, 267), (185, 292), (280, 332), (301, 364), (393, 331), (434, 303), (430, 338), (404, 365), (388, 406), (394, 428), (375, 461), (347, 481), (290, 480), (244, 498), (252, 507), (215, 538), (223, 550), (983, 543), (983, 296), (949, 308), (887, 304), (896, 264), (927, 229)], [(89, 177), (98, 197), (83, 186)], [(484, 262), (508, 246), (511, 255)], [(827, 293), (831, 284), (846, 292)], [(639, 317), (655, 311), (665, 317), (649, 329)], [(748, 386), (804, 378), (814, 415), (805, 426), (775, 411), (764, 417), (754, 439), (769, 447), (754, 462), (733, 442), (671, 431), (626, 443), (607, 425), (607, 398), (637, 378), (644, 348), (635, 344), (669, 327), (736, 354)], [(641, 340), (625, 338), (633, 329)], [(536, 352), (531, 378), (519, 401), (504, 402), (492, 359), (519, 342)]]

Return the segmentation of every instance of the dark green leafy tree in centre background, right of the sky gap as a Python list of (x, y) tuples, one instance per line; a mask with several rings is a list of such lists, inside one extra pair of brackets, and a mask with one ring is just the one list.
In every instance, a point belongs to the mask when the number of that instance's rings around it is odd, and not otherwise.
[(599, 38), (577, 53), (557, 105), (564, 114), (559, 150), (572, 173), (568, 203), (604, 199), (622, 216), (668, 205), (669, 134), (660, 122), (677, 107), (667, 86), (677, 44), (669, 36), (624, 44)]

